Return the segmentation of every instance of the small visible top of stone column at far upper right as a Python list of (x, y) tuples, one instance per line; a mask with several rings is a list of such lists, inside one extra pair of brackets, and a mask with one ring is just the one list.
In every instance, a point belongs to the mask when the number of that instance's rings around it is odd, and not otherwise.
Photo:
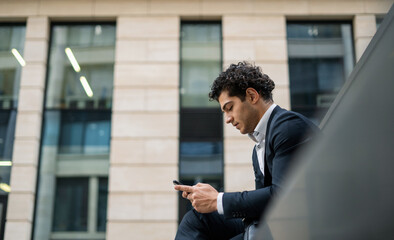
[(376, 32), (376, 17), (373, 14), (356, 15), (353, 20), (356, 59), (360, 60)]

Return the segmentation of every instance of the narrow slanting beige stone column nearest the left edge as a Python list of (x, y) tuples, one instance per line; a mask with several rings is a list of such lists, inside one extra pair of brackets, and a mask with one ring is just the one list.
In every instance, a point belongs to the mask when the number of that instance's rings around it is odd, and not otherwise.
[(30, 240), (49, 39), (47, 17), (29, 17), (15, 128), (5, 239)]

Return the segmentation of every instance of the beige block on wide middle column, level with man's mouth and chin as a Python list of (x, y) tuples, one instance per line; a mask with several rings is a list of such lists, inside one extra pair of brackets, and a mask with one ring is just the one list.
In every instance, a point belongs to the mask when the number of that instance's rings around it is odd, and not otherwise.
[(113, 113), (112, 137), (177, 137), (178, 114)]

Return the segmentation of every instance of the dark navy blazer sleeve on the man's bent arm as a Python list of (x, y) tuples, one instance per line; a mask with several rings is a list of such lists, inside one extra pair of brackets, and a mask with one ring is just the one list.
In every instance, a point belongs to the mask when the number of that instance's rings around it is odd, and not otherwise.
[(309, 128), (304, 119), (294, 114), (277, 118), (269, 137), (269, 147), (274, 151), (272, 185), (254, 191), (224, 193), (225, 218), (258, 219), (264, 213), (272, 195), (281, 187), (295, 150), (310, 140), (306, 134)]

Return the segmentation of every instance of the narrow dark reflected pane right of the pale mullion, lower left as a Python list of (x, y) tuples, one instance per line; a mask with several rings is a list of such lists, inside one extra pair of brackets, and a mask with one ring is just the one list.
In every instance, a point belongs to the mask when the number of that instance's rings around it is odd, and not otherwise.
[(105, 232), (107, 224), (108, 178), (99, 179), (97, 231)]

